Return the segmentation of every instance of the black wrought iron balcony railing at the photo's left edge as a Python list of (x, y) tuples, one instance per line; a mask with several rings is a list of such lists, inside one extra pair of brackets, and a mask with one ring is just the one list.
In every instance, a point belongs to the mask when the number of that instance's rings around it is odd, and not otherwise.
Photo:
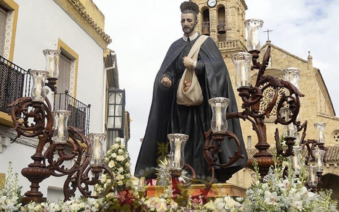
[(8, 104), (28, 96), (30, 85), (29, 71), (0, 56), (0, 111), (11, 112)]

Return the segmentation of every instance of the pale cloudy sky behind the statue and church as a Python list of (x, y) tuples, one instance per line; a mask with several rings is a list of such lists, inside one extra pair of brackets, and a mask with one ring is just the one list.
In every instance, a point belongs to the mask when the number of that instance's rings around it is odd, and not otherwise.
[[(104, 31), (112, 38), (108, 47), (117, 53), (120, 88), (126, 90), (126, 110), (133, 119), (128, 151), (134, 170), (154, 78), (168, 47), (182, 36), (183, 0), (93, 1), (105, 15)], [(273, 44), (304, 59), (311, 51), (338, 115), (339, 0), (246, 0), (246, 4), (246, 19), (264, 20), (263, 29), (273, 30)], [(262, 43), (266, 40), (262, 33)]]

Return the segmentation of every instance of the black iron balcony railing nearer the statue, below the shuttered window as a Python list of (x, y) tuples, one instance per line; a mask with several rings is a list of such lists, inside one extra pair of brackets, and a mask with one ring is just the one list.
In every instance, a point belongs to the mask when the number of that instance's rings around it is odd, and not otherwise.
[(71, 111), (71, 116), (68, 118), (68, 126), (76, 127), (84, 130), (87, 135), (89, 131), (89, 116), (91, 115), (91, 104), (84, 104), (65, 93), (53, 94), (54, 106), (53, 110), (68, 110)]

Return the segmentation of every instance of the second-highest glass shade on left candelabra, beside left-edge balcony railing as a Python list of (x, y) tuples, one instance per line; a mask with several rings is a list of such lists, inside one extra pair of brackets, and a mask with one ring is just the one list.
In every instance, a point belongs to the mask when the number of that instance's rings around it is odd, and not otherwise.
[(45, 81), (48, 75), (44, 70), (31, 70), (29, 71), (33, 79), (33, 87), (31, 92), (32, 101), (43, 102), (46, 97)]

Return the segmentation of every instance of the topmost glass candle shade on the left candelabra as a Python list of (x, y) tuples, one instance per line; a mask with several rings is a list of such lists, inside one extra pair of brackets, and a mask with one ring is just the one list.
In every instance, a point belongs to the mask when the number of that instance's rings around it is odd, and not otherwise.
[(46, 58), (45, 70), (48, 71), (47, 78), (58, 78), (59, 75), (58, 59), (61, 51), (58, 49), (45, 49), (42, 51), (42, 53)]

